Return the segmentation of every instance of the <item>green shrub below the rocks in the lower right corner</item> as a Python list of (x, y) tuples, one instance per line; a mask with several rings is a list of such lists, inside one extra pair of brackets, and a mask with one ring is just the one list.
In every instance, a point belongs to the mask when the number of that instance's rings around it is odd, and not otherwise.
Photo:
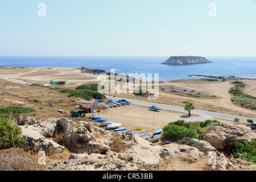
[(233, 142), (232, 155), (234, 158), (240, 158), (247, 162), (256, 163), (256, 141), (251, 142)]

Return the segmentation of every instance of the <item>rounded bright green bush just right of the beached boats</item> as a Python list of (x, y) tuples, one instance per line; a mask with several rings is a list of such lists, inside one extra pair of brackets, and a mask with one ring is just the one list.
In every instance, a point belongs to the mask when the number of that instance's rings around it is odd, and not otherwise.
[(187, 129), (186, 127), (177, 126), (177, 125), (165, 126), (163, 129), (163, 137), (174, 142), (184, 137), (198, 139), (197, 134), (195, 133), (195, 130)]

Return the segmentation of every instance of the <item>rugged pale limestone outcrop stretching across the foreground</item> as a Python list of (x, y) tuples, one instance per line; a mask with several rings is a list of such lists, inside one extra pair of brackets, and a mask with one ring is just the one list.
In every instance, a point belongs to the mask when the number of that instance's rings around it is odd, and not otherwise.
[[(225, 171), (229, 168), (249, 170), (253, 167), (251, 163), (226, 158), (221, 151), (217, 150), (224, 148), (227, 141), (232, 140), (230, 136), (233, 136), (233, 139), (252, 139), (251, 133), (247, 134), (247, 131), (225, 124), (216, 124), (218, 132), (215, 135), (212, 132), (208, 132), (205, 135), (205, 140), (193, 139), (207, 148), (204, 151), (176, 142), (160, 146), (148, 142), (148, 140), (138, 135), (122, 132), (115, 133), (114, 131), (97, 127), (93, 122), (75, 122), (68, 118), (49, 118), (36, 122), (34, 125), (20, 127), (22, 128), (22, 135), (28, 140), (31, 147), (42, 150), (52, 148), (55, 152), (61, 152), (68, 148), (72, 152), (69, 159), (57, 160), (49, 164), (46, 167), (47, 170), (135, 171), (159, 169), (164, 161), (174, 162), (177, 156), (181, 159), (191, 159), (192, 162), (200, 162), (201, 159), (207, 159), (205, 163), (209, 164), (210, 170)], [(60, 143), (54, 142), (49, 137), (55, 133), (61, 135)], [(113, 150), (111, 144), (114, 137), (122, 139), (121, 146), (124, 151)], [(175, 166), (176, 164), (172, 165)], [(177, 165), (179, 165), (179, 162)]]

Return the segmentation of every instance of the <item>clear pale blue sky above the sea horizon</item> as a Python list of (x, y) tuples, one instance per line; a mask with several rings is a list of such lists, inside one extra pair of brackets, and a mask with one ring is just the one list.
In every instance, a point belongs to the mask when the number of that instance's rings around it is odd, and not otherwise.
[(0, 56), (256, 56), (256, 0), (1, 0), (0, 25)]

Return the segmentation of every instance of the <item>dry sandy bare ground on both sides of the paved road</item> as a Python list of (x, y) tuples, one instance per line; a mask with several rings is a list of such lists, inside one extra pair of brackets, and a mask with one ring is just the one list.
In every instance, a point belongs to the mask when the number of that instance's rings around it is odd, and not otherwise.
[[(81, 73), (76, 68), (0, 68), (0, 78), (14, 78), (38, 84), (49, 84), (51, 80), (66, 81), (66, 85), (61, 86), (63, 88), (75, 88), (78, 85), (88, 82), (100, 82), (97, 80), (97, 75)], [(255, 96), (256, 80), (243, 81), (246, 83), (246, 88), (243, 91)], [(234, 86), (231, 82), (205, 81), (201, 79), (161, 81), (160, 85), (179, 86), (180, 88), (195, 90), (195, 93), (202, 92), (217, 97), (194, 98), (170, 93), (166, 90), (159, 90), (159, 97), (154, 102), (176, 106), (184, 106), (186, 102), (192, 102), (196, 109), (215, 110), (220, 113), (255, 118), (255, 110), (242, 108), (234, 105), (230, 101), (232, 95), (228, 91)], [(0, 80), (0, 107), (12, 104), (34, 107), (38, 110), (38, 113), (35, 113), (35, 117), (38, 118), (69, 116), (70, 111), (74, 110), (73, 105), (80, 99), (74, 97), (68, 98), (67, 96), (68, 94), (59, 93), (57, 90)], [(115, 94), (115, 96), (148, 101), (147, 97), (136, 97), (134, 94)], [(57, 113), (58, 109), (67, 111), (67, 114)], [(145, 135), (150, 135), (153, 130), (162, 128), (168, 122), (173, 122), (177, 119), (205, 119), (195, 115), (192, 115), (191, 118), (184, 118), (184, 113), (168, 110), (153, 112), (149, 111), (147, 107), (136, 105), (126, 105), (114, 109), (102, 110), (98, 114), (108, 120), (122, 123), (129, 130), (142, 127), (142, 130), (137, 133), (143, 133)]]

